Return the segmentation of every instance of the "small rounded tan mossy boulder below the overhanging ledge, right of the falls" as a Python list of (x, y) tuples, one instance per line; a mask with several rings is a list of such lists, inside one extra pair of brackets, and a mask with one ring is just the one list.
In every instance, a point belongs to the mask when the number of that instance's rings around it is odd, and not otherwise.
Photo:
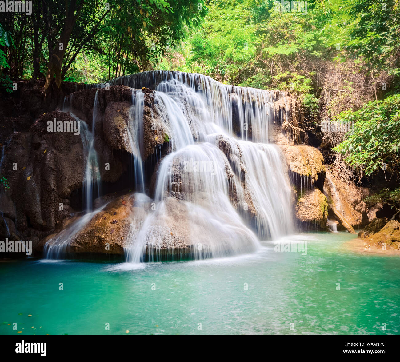
[(318, 188), (314, 188), (298, 200), (296, 218), (309, 228), (326, 230), (328, 203)]

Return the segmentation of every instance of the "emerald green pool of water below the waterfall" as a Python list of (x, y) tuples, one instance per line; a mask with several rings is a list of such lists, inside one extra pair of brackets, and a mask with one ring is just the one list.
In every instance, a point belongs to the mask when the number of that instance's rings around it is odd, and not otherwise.
[[(264, 242), (262, 250), (246, 256), (142, 264), (136, 269), (126, 263), (3, 262), (0, 333), (16, 334), (12, 329), (16, 322), (21, 335), (125, 334), (126, 330), (130, 334), (398, 334), (400, 260), (353, 253), (343, 246), (353, 237), (348, 233), (291, 237), (308, 241), (307, 255), (275, 252), (273, 242)], [(59, 283), (64, 290), (59, 290)]]

